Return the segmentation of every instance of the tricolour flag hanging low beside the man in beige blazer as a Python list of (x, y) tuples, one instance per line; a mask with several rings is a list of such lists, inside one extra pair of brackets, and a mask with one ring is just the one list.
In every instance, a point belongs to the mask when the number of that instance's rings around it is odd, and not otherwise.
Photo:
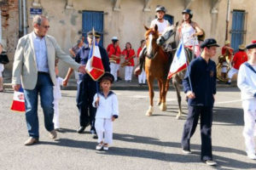
[(14, 100), (11, 106), (12, 111), (25, 111), (25, 99), (23, 88), (20, 87), (19, 91), (14, 93)]

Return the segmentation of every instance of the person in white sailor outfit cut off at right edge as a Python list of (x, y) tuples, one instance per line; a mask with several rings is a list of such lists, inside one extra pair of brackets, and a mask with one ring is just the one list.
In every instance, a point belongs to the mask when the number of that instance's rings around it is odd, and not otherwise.
[(247, 156), (256, 160), (253, 133), (256, 120), (256, 41), (247, 46), (249, 60), (241, 65), (237, 77), (237, 86), (241, 89), (244, 111), (244, 129)]

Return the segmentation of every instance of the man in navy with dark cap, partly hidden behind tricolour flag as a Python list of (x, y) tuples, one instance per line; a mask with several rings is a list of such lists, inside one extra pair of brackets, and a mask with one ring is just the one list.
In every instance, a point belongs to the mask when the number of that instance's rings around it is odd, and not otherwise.
[[(99, 43), (101, 39), (101, 33), (95, 31), (96, 42)], [(75, 60), (83, 65), (86, 65), (87, 60), (90, 54), (90, 47), (92, 45), (93, 40), (93, 32), (89, 31), (87, 33), (87, 41), (88, 44), (85, 44), (80, 50), (79, 53), (76, 55)], [(109, 68), (109, 59), (108, 53), (106, 49), (99, 46), (100, 54), (102, 57), (102, 64), (104, 66), (105, 71), (110, 71)], [(92, 106), (92, 101), (94, 94), (96, 94), (96, 89), (98, 87), (98, 83), (95, 82), (89, 74), (79, 74), (79, 81), (78, 81), (78, 93), (77, 93), (77, 106), (79, 108), (79, 122), (80, 127), (78, 129), (78, 133), (83, 133), (85, 127), (90, 124), (90, 132), (96, 133), (95, 130), (95, 115), (96, 115), (96, 108)]]

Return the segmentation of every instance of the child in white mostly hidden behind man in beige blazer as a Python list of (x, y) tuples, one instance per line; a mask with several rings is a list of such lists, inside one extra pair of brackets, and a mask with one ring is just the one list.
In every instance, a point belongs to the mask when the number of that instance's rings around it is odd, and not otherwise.
[(60, 122), (59, 122), (59, 100), (61, 99), (61, 86), (63, 86), (63, 79), (59, 77), (59, 70), (57, 64), (55, 65), (55, 74), (56, 74), (56, 84), (54, 86), (54, 119), (53, 122), (55, 124), (55, 130), (60, 130)]

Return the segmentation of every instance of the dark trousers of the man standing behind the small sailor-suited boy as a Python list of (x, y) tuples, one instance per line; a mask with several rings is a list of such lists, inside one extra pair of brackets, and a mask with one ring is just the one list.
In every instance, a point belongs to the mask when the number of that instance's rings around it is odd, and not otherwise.
[(92, 106), (93, 97), (96, 94), (97, 82), (87, 78), (78, 82), (77, 106), (79, 108), (80, 126), (95, 130), (96, 108)]

